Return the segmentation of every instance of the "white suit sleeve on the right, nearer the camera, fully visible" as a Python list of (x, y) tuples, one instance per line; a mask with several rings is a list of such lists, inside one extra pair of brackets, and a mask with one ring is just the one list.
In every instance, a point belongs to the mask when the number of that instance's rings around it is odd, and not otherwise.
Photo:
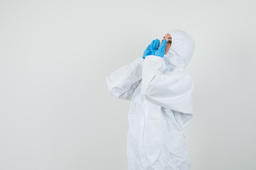
[(149, 55), (142, 66), (141, 93), (148, 102), (181, 113), (193, 114), (193, 79), (185, 72), (161, 72), (164, 59)]

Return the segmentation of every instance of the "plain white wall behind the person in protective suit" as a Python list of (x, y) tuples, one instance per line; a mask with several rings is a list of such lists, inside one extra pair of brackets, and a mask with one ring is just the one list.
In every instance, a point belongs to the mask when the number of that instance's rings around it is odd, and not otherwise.
[(183, 29), (191, 170), (256, 169), (253, 0), (0, 0), (0, 170), (127, 170), (129, 101), (105, 76)]

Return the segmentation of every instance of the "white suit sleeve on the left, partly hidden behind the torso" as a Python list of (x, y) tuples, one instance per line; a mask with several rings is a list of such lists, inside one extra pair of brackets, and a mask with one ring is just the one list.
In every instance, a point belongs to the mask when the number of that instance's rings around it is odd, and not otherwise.
[(144, 58), (138, 57), (133, 62), (106, 76), (109, 93), (119, 99), (131, 100), (141, 82), (143, 62)]

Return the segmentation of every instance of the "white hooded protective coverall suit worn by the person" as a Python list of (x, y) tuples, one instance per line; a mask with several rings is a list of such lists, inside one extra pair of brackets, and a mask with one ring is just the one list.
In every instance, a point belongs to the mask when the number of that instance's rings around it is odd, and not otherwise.
[(185, 31), (172, 37), (164, 57), (136, 58), (106, 77), (108, 91), (130, 100), (127, 156), (129, 170), (189, 170), (183, 128), (193, 117), (193, 79), (184, 71), (195, 50)]

